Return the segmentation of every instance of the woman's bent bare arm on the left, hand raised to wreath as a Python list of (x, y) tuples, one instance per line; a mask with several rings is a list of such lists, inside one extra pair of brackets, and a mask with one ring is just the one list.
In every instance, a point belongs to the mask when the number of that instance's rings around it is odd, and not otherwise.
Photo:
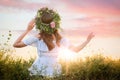
[(21, 47), (25, 47), (26, 45), (22, 42), (22, 39), (33, 29), (35, 24), (35, 20), (31, 20), (28, 24), (28, 27), (26, 29), (26, 31), (21, 34), (18, 39), (14, 42), (13, 46), (16, 48), (21, 48)]

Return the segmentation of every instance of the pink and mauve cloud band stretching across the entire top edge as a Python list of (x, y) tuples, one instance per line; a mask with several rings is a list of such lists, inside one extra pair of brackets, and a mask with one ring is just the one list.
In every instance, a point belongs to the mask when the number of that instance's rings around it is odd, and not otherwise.
[[(91, 15), (120, 15), (120, 0), (0, 0), (0, 6), (17, 9), (37, 10), (48, 6), (62, 11), (86, 13)], [(108, 14), (109, 13), (109, 14)]]

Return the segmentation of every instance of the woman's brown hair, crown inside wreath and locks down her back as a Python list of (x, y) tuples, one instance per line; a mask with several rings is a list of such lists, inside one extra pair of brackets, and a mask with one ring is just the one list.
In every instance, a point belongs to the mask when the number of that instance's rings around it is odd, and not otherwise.
[[(45, 24), (50, 24), (53, 21), (53, 16), (50, 13), (45, 12), (42, 16), (41, 16), (41, 21)], [(58, 33), (58, 30), (55, 30), (54, 33), (55, 35), (55, 39), (56, 39), (56, 44), (58, 46), (60, 46), (60, 40), (61, 40), (61, 35)], [(43, 39), (43, 41), (46, 43), (47, 47), (49, 50), (52, 50), (55, 45), (53, 43), (53, 36), (52, 34), (48, 34), (44, 31), (40, 32), (41, 38)]]

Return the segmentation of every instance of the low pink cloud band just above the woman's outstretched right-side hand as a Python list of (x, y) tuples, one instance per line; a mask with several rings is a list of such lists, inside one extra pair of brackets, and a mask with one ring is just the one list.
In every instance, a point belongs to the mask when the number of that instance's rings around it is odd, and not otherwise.
[(120, 36), (120, 31), (117, 30), (117, 28), (106, 29), (105, 27), (77, 28), (73, 30), (72, 29), (65, 30), (65, 32), (68, 36), (74, 36), (74, 37), (78, 37), (78, 36), (85, 37), (90, 32), (93, 32), (96, 35), (96, 37), (119, 37)]

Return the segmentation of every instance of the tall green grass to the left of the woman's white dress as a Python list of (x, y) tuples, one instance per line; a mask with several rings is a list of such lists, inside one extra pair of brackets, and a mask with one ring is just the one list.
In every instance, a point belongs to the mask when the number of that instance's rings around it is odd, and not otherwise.
[(14, 60), (10, 55), (4, 56), (4, 53), (0, 52), (1, 80), (27, 80), (29, 78), (27, 68), (30, 64), (30, 61)]

